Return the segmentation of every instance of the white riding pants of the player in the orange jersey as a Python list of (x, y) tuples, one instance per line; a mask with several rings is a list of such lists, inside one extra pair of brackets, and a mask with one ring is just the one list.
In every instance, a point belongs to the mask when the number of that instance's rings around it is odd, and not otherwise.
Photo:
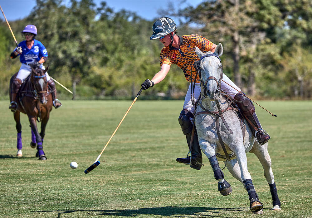
[[(236, 88), (238, 91), (241, 92), (241, 89), (238, 88), (238, 86), (235, 85), (235, 83), (233, 83), (228, 77), (227, 75), (225, 75), (223, 73), (223, 77), (222, 80), (224, 80), (225, 82), (229, 83), (231, 86), (233, 86), (234, 88)], [(234, 98), (234, 96), (238, 93), (237, 90), (235, 90), (234, 88), (232, 88), (231, 86), (229, 86), (227, 83), (224, 83), (223, 81), (221, 81), (221, 85), (220, 88), (224, 91), (227, 92), (232, 98)], [(194, 99), (195, 102), (197, 101), (199, 95), (200, 95), (200, 83), (195, 83), (195, 90), (194, 90)], [(183, 105), (183, 109), (186, 109), (188, 111), (191, 111), (192, 113), (194, 113), (194, 105), (192, 104), (192, 90), (191, 90), (191, 83), (188, 87), (188, 92), (186, 93), (185, 99), (184, 99), (184, 105)]]

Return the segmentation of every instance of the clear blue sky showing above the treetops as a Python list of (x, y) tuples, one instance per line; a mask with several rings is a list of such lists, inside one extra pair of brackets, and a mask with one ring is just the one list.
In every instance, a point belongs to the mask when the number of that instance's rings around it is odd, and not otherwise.
[[(105, 0), (94, 0), (94, 2), (99, 5), (100, 2)], [(168, 2), (175, 2), (174, 6), (177, 8), (188, 7), (189, 5), (195, 7), (203, 0), (186, 0), (181, 4), (181, 0), (106, 0), (107, 5), (114, 9), (114, 11), (119, 11), (124, 8), (129, 11), (137, 12), (140, 17), (147, 20), (154, 21), (158, 17), (158, 9), (168, 8)], [(63, 1), (65, 4), (70, 2), (69, 0)], [(27, 17), (32, 8), (36, 5), (36, 0), (0, 0), (0, 5), (3, 9), (5, 16), (8, 21), (14, 21)], [(4, 20), (3, 15), (0, 16)], [(172, 17), (174, 19), (174, 17)]]

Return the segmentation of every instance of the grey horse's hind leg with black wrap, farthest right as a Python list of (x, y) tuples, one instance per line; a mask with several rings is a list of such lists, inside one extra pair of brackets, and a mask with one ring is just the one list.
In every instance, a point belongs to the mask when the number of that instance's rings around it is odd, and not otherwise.
[(271, 158), (268, 152), (268, 144), (266, 143), (265, 145), (260, 146), (258, 143), (255, 142), (251, 149), (251, 152), (256, 155), (264, 169), (264, 176), (270, 186), (273, 210), (280, 211), (280, 199), (278, 198), (277, 189), (274, 182), (274, 175), (271, 168)]

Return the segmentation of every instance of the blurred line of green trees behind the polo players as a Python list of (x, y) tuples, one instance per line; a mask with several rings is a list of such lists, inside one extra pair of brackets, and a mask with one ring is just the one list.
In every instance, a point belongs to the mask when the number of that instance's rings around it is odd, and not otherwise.
[[(10, 21), (18, 41), (26, 24), (37, 26), (48, 50), (49, 74), (75, 98), (130, 98), (160, 69), (158, 40), (149, 40), (154, 21), (135, 12), (114, 12), (101, 2), (37, 0), (29, 16)], [(171, 5), (172, 6), (172, 5)], [(160, 10), (179, 22), (178, 35), (199, 33), (222, 43), (224, 73), (246, 94), (265, 98), (311, 98), (312, 2), (310, 0), (206, 0), (197, 7)], [(168, 13), (169, 12), (169, 13)], [(8, 98), (9, 78), (18, 59), (5, 21), (0, 23), (0, 97)], [(145, 98), (181, 98), (188, 82), (173, 65), (167, 77), (142, 93)], [(57, 87), (62, 97), (70, 96)], [(159, 94), (161, 93), (161, 94)], [(183, 94), (184, 93), (184, 94)], [(163, 98), (163, 97), (162, 97)]]

